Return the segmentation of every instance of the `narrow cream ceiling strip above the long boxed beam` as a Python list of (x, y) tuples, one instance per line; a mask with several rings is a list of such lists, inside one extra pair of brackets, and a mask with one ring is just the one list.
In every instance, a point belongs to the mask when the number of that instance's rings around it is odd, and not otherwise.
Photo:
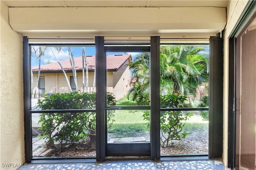
[(229, 0), (2, 0), (9, 7), (222, 7)]

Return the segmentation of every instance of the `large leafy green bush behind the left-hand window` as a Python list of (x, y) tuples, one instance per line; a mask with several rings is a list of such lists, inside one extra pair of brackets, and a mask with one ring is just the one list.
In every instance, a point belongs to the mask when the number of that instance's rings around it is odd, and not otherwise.
[[(83, 92), (57, 93), (38, 100), (42, 110), (52, 109), (95, 109), (96, 94)], [(108, 93), (108, 105), (116, 105), (115, 97)], [(39, 122), (42, 123), (42, 138), (49, 139), (48, 144), (54, 149), (64, 150), (64, 144), (84, 140), (89, 133), (96, 133), (96, 113), (41, 113)], [(114, 110), (108, 114), (108, 124), (114, 122)], [(58, 143), (55, 145), (54, 143)]]

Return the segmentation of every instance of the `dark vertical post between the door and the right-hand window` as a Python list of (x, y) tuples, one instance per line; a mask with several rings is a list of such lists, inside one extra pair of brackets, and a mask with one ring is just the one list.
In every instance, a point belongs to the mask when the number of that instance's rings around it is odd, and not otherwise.
[(160, 37), (150, 40), (150, 149), (160, 159)]

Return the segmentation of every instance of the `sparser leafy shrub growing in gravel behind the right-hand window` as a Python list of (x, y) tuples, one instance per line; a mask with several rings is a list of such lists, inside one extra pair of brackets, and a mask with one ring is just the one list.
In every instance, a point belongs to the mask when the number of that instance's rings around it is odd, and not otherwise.
[[(160, 96), (160, 106), (165, 108), (186, 107), (186, 96), (178, 96), (176, 94), (170, 94)], [(182, 111), (161, 111), (160, 113), (160, 139), (162, 141), (162, 147), (168, 147), (170, 140), (184, 139), (186, 135), (190, 134), (182, 130), (186, 121), (191, 117), (191, 112)], [(144, 112), (144, 119), (149, 121), (149, 111)], [(149, 124), (148, 124), (149, 126)]]

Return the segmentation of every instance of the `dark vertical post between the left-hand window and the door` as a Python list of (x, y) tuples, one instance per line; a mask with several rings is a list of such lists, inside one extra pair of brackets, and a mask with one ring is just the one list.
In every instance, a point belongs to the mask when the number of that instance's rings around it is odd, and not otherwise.
[(104, 161), (106, 157), (106, 130), (105, 130), (105, 103), (106, 98), (102, 95), (106, 94), (105, 87), (105, 70), (106, 58), (104, 55), (104, 37), (95, 37), (96, 49), (96, 160)]

